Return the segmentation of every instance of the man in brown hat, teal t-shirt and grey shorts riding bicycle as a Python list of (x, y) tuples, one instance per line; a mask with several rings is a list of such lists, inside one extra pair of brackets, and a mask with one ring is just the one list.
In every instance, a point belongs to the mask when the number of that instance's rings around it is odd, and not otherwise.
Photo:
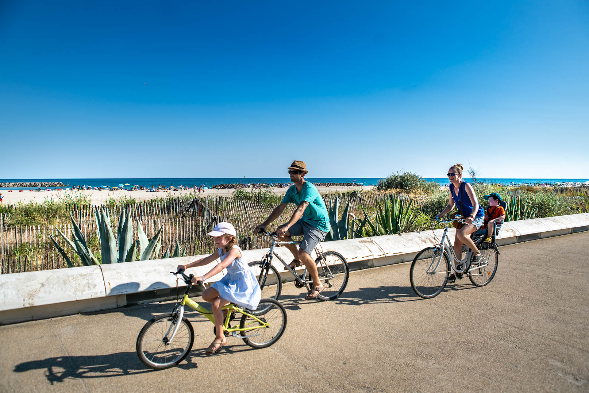
[(305, 181), (305, 175), (309, 173), (305, 162), (294, 160), (287, 169), (290, 181), (294, 183), (293, 186), (289, 187), (282, 202), (270, 213), (266, 221), (256, 226), (254, 233), (259, 232), (260, 229), (265, 232), (266, 226), (280, 217), (287, 204), (297, 205), (289, 222), (276, 229), (276, 236), (285, 242), (291, 241), (291, 236), (303, 236), (298, 250), (296, 245), (285, 246), (294, 256), (293, 262), (289, 266), (294, 269), (297, 266), (305, 265), (313, 279), (309, 295), (305, 298), (310, 300), (315, 299), (323, 290), (323, 284), (319, 281), (317, 266), (311, 257), (311, 252), (329, 232), (329, 214), (315, 185)]

